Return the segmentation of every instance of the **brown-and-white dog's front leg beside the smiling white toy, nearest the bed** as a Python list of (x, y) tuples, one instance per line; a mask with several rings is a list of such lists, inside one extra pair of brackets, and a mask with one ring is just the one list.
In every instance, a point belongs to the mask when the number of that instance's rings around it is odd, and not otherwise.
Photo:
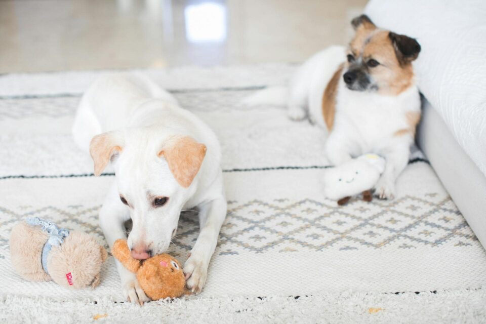
[(395, 181), (400, 173), (407, 167), (410, 156), (410, 143), (394, 143), (388, 149), (378, 154), (386, 159), (385, 171), (375, 185), (376, 194), (380, 199), (393, 199), (395, 197)]

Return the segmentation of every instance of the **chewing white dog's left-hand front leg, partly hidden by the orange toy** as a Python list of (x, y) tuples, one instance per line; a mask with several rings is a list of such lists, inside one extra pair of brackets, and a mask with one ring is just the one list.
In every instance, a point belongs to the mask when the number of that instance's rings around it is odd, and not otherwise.
[[(113, 183), (100, 211), (100, 227), (103, 230), (103, 234), (105, 235), (110, 249), (113, 247), (115, 240), (119, 238), (127, 238), (127, 230), (124, 224), (129, 219), (130, 212), (127, 207), (121, 203), (116, 184)], [(115, 260), (115, 263), (120, 275), (121, 287), (125, 298), (132, 303), (138, 303), (140, 305), (149, 301), (150, 299), (145, 295), (138, 284), (135, 274), (128, 271), (117, 260)]]

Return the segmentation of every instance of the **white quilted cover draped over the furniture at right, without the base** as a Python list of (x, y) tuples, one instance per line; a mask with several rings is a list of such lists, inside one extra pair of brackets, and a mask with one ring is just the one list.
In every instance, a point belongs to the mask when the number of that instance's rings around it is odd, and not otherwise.
[(486, 2), (371, 0), (375, 24), (417, 38), (420, 91), (486, 175)]

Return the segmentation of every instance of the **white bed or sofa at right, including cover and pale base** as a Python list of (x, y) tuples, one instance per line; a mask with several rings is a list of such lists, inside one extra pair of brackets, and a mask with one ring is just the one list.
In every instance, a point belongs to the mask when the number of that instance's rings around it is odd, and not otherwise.
[(365, 13), (420, 43), (417, 142), (486, 247), (486, 2), (371, 0)]

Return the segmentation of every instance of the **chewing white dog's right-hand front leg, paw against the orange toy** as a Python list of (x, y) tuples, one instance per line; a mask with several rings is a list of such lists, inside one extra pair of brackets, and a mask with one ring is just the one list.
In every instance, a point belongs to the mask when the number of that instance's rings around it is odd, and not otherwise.
[(199, 236), (184, 264), (187, 288), (199, 293), (206, 282), (208, 266), (216, 249), (219, 231), (226, 217), (226, 199), (224, 196), (199, 206)]

